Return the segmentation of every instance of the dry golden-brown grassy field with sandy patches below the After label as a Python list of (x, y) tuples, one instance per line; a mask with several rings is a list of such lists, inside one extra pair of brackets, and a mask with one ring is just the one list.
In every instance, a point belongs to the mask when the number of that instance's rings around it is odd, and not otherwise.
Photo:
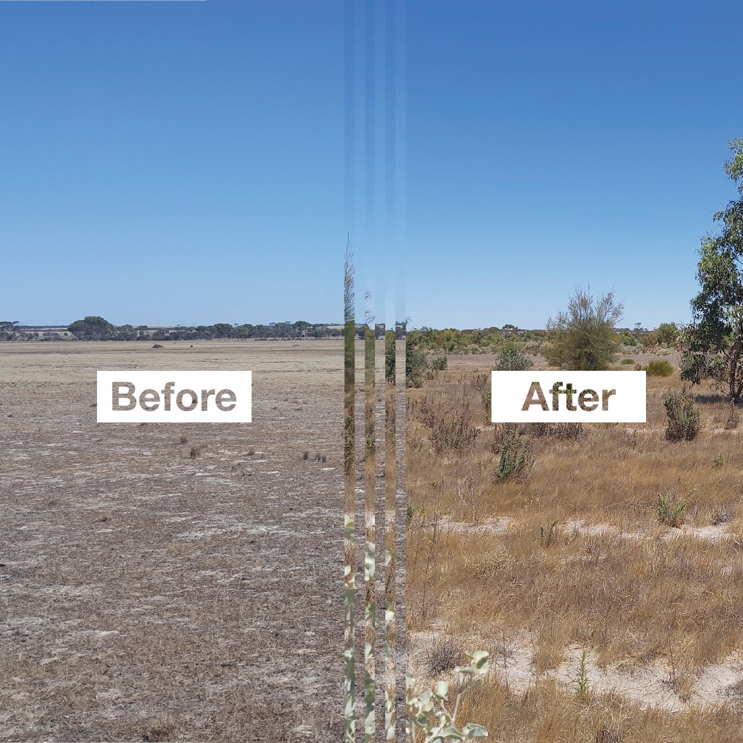
[(454, 681), (464, 650), (487, 649), (460, 720), (494, 741), (743, 740), (743, 453), (727, 405), (702, 389), (698, 438), (666, 441), (663, 396), (681, 383), (649, 377), (646, 424), (524, 429), (533, 467), (502, 481), (491, 368), (450, 357), (409, 391), (419, 683)]

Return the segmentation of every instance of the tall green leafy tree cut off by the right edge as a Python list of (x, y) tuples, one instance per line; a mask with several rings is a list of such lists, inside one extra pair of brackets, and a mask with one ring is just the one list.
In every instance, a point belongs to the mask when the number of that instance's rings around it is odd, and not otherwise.
[(721, 222), (718, 235), (701, 240), (701, 291), (691, 301), (692, 322), (681, 332), (681, 378), (714, 380), (734, 405), (743, 395), (743, 139), (729, 144), (733, 157), (724, 171), (739, 198), (713, 215)]

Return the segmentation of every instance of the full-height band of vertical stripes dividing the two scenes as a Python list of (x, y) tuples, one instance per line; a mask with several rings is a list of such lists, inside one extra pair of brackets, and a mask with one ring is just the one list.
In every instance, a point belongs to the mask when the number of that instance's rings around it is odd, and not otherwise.
[[(404, 0), (345, 0), (345, 743), (355, 742), (360, 716), (365, 743), (405, 738), (404, 5)], [(351, 244), (363, 267), (360, 283)], [(360, 323), (357, 288), (366, 299)], [(364, 386), (357, 406), (359, 337)], [(363, 488), (357, 488), (361, 481)], [(356, 529), (362, 518), (363, 536)], [(360, 568), (363, 608), (355, 589)], [(383, 621), (377, 621), (380, 606)], [(364, 627), (363, 655), (355, 642), (358, 622)], [(362, 678), (363, 698), (356, 694)]]

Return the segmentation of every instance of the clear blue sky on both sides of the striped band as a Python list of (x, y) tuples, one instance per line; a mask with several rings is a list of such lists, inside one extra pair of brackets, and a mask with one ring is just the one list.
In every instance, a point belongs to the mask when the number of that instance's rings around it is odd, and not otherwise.
[[(407, 3), (413, 325), (687, 319), (743, 7), (600, 5)], [(0, 319), (340, 319), (343, 65), (341, 0), (0, 2)]]

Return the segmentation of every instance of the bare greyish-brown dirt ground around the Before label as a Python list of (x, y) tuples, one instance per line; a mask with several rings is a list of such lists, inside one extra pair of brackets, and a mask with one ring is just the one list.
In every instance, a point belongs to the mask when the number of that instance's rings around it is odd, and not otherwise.
[[(340, 739), (342, 345), (165, 345), (0, 345), (0, 740)], [(251, 369), (253, 424), (97, 424), (98, 369)]]

